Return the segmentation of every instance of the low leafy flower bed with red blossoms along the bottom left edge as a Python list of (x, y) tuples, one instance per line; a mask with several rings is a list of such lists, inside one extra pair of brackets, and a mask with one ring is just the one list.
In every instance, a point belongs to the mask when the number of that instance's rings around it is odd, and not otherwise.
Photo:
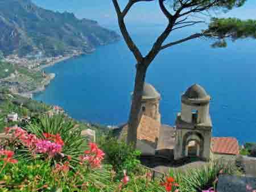
[[(21, 143), (26, 141), (28, 144), (30, 139), (34, 138), (21, 128), (14, 129), (14, 135), (18, 136), (16, 139)], [(54, 138), (56, 143), (61, 143), (59, 137)], [(148, 172), (130, 178), (125, 170), (121, 180), (115, 181), (112, 166), (102, 164), (105, 154), (94, 143), (90, 143), (89, 150), (79, 156), (80, 162), (76, 166), (71, 166), (70, 156), (67, 160), (52, 164), (53, 156), (51, 152), (47, 151), (47, 153), (50, 158), (32, 158), (31, 161), (26, 161), (22, 157), (18, 160), (14, 159), (13, 151), (0, 149), (0, 191), (163, 192), (172, 191), (170, 187), (175, 185), (174, 181), (170, 181), (172, 178), (167, 178), (165, 183), (159, 185), (159, 181), (153, 181), (152, 174)]]

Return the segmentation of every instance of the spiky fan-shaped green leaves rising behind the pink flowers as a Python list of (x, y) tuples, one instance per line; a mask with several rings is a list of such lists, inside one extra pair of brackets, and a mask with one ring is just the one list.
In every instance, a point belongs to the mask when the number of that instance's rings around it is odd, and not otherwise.
[[(32, 123), (29, 123), (25, 129), (36, 135), (38, 138), (45, 139), (43, 133), (56, 135), (59, 133), (64, 141), (63, 153), (65, 156), (71, 156), (72, 165), (79, 162), (79, 156), (87, 149), (86, 138), (81, 135), (80, 127), (76, 127), (71, 119), (65, 118), (63, 115), (39, 116)], [(27, 158), (30, 156), (25, 155)], [(55, 159), (58, 161), (58, 159)], [(61, 160), (61, 159), (59, 159)]]

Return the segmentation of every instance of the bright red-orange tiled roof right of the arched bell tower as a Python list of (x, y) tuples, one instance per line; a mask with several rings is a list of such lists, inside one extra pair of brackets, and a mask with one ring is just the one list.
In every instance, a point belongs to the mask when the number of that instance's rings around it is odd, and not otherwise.
[(238, 141), (234, 137), (212, 137), (213, 153), (239, 155)]

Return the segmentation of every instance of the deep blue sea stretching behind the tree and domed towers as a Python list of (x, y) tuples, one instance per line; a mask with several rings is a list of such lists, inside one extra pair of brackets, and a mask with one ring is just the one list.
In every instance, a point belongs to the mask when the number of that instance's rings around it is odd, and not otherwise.
[[(145, 54), (164, 26), (130, 26)], [(196, 29), (195, 29), (196, 30)], [(168, 40), (191, 34), (175, 33)], [(162, 122), (174, 125), (180, 97), (194, 83), (212, 97), (214, 136), (256, 141), (256, 41), (229, 42), (213, 49), (213, 41), (192, 40), (161, 52), (148, 68), (146, 81), (162, 95)], [(127, 122), (134, 86), (135, 60), (123, 40), (98, 47), (91, 55), (69, 59), (46, 69), (56, 78), (35, 99), (64, 107), (73, 118), (106, 125)]]

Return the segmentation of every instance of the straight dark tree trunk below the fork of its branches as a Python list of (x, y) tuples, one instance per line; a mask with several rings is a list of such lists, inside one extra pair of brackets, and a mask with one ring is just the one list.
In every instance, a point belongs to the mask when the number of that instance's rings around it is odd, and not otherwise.
[(133, 144), (134, 148), (137, 146), (137, 127), (141, 120), (139, 112), (141, 111), (143, 86), (147, 70), (145, 66), (146, 65), (144, 64), (137, 64), (133, 98), (128, 122), (127, 144)]

